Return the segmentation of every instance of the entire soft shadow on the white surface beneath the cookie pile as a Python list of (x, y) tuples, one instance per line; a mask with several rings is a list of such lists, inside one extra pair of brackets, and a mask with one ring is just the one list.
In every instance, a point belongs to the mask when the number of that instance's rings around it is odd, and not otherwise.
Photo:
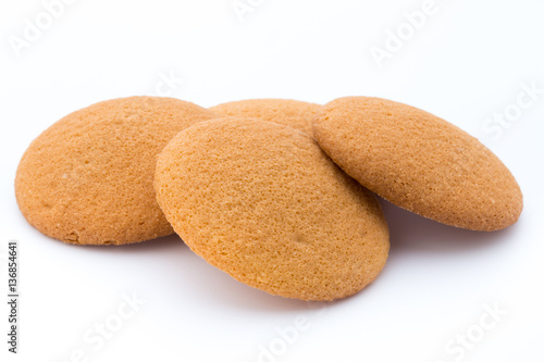
[[(483, 233), (460, 229), (424, 219), (381, 199), (391, 232), (392, 260), (404, 259), (408, 254), (432, 254), (432, 259), (449, 258), (453, 253), (472, 253), (483, 248), (492, 248), (507, 242), (512, 228)], [(269, 313), (297, 312), (318, 308), (319, 302), (271, 296), (262, 290), (246, 286), (226, 273), (209, 265), (176, 235), (126, 246), (72, 246), (58, 242), (61, 249), (69, 248), (72, 257), (100, 262), (101, 269), (113, 272), (124, 269), (121, 274), (129, 284), (141, 285), (153, 294), (164, 297), (164, 308), (175, 304), (202, 303), (219, 309)], [(65, 251), (69, 251), (65, 249)], [(89, 261), (88, 261), (89, 262)], [(395, 261), (393, 261), (395, 262)], [(134, 270), (134, 269), (137, 270)], [(386, 278), (387, 267), (378, 279), (363, 291), (333, 304), (361, 302), (361, 298), (372, 295), (374, 284)], [(107, 273), (107, 272), (106, 272)], [(121, 283), (121, 282), (120, 282)], [(190, 298), (193, 300), (187, 300)], [(161, 298), (162, 299), (162, 298)], [(171, 305), (169, 305), (171, 304)], [(317, 307), (318, 305), (318, 307)]]

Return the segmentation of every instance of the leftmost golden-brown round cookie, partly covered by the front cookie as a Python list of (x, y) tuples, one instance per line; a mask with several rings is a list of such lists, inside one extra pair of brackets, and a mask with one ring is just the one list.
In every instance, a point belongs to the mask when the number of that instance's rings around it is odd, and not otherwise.
[(173, 98), (131, 97), (76, 111), (24, 153), (15, 195), (24, 216), (55, 239), (121, 245), (173, 233), (157, 204), (157, 155), (180, 130), (214, 114)]

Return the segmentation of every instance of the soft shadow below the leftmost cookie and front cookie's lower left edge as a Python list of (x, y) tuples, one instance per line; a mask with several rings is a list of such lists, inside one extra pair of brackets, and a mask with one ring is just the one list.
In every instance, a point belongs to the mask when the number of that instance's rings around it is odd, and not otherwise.
[[(62, 244), (58, 240), (51, 241)], [(272, 296), (237, 282), (190, 251), (177, 235), (125, 246), (65, 245), (65, 247), (77, 248), (82, 253), (92, 253), (95, 257), (100, 254), (99, 258), (104, 260), (143, 259), (145, 264), (141, 265), (141, 270), (149, 267), (149, 273), (160, 278), (160, 284), (168, 283), (170, 288), (162, 289), (163, 292), (180, 301), (194, 298), (202, 303), (222, 304), (227, 309), (269, 312), (317, 308), (311, 305), (312, 302)], [(170, 302), (175, 303), (175, 301)]]

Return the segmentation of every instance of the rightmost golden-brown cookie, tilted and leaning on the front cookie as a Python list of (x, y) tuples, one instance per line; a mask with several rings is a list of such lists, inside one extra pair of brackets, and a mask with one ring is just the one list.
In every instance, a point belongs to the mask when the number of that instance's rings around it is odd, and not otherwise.
[(380, 98), (341, 98), (323, 107), (313, 135), (351, 177), (420, 215), (497, 230), (521, 213), (521, 190), (500, 160), (422, 110)]

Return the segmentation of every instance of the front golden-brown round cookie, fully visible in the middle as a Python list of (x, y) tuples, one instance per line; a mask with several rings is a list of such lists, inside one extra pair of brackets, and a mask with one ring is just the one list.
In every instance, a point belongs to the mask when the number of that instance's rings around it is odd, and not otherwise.
[(272, 295), (347, 297), (387, 259), (375, 196), (288, 126), (239, 117), (194, 125), (159, 155), (154, 188), (193, 251)]

